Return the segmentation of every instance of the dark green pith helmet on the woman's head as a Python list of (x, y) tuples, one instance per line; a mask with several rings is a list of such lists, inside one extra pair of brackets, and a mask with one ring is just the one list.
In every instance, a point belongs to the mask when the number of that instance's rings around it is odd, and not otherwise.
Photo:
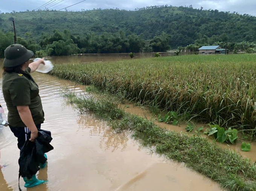
[(23, 45), (13, 44), (5, 49), (4, 67), (19, 66), (34, 56), (34, 53), (27, 50)]

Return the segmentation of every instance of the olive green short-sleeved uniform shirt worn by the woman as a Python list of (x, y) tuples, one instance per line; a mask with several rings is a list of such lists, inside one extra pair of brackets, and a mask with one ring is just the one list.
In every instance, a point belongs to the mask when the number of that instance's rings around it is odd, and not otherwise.
[(25, 127), (17, 106), (28, 105), (35, 125), (44, 122), (44, 112), (38, 85), (30, 75), (30, 68), (20, 74), (3, 73), (2, 90), (8, 108), (8, 122), (13, 127)]

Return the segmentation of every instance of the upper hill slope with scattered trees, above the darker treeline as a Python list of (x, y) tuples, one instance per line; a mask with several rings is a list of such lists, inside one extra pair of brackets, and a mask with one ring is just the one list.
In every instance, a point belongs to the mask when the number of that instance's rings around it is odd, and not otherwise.
[[(153, 39), (162, 32), (171, 35), (172, 48), (194, 43), (206, 35), (212, 42), (221, 41), (218, 36), (227, 34), (230, 42), (256, 42), (256, 17), (237, 13), (206, 11), (201, 8), (172, 6), (151, 6), (136, 11), (119, 9), (97, 9), (91, 11), (32, 11), (0, 14), (0, 29), (5, 33), (13, 31), (15, 19), (17, 36), (30, 37), (39, 42), (41, 33), (52, 33), (57, 29), (70, 30), (73, 35), (86, 36), (90, 33), (116, 33), (122, 30), (126, 36), (140, 35)], [(211, 39), (210, 39), (211, 40)], [(212, 44), (209, 42), (209, 44)]]

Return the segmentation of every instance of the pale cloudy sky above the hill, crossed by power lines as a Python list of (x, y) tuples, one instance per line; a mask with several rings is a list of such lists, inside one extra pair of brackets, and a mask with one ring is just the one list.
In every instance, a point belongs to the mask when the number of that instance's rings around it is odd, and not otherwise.
[[(33, 10), (44, 5), (50, 0), (0, 0), (0, 11), (26, 11), (27, 9)], [(52, 6), (49, 9), (59, 10), (82, 0), (52, 0)], [(59, 3), (54, 5), (55, 3)], [(63, 5), (61, 5), (64, 3)], [(218, 9), (219, 11), (238, 12), (240, 14), (250, 14), (256, 16), (256, 0), (86, 0), (78, 5), (68, 8), (69, 11), (80, 11), (83, 9), (97, 9), (97, 8), (119, 8), (126, 10), (134, 10), (135, 8), (142, 8), (151, 5), (172, 5), (172, 6), (189, 6), (193, 8), (204, 9)]]

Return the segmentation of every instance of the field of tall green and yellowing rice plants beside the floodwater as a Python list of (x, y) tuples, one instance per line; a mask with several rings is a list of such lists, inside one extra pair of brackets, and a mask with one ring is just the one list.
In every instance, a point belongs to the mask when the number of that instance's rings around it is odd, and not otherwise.
[(140, 104), (255, 134), (255, 55), (189, 55), (113, 63), (55, 65), (52, 75), (122, 90)]

